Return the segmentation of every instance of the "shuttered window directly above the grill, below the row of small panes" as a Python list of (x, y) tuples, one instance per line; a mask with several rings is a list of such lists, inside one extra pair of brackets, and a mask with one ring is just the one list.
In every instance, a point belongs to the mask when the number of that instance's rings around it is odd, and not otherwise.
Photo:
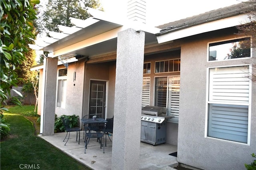
[[(167, 115), (178, 118), (180, 107), (180, 76), (156, 77), (155, 106), (167, 107)], [(178, 121), (178, 119), (172, 119)]]

